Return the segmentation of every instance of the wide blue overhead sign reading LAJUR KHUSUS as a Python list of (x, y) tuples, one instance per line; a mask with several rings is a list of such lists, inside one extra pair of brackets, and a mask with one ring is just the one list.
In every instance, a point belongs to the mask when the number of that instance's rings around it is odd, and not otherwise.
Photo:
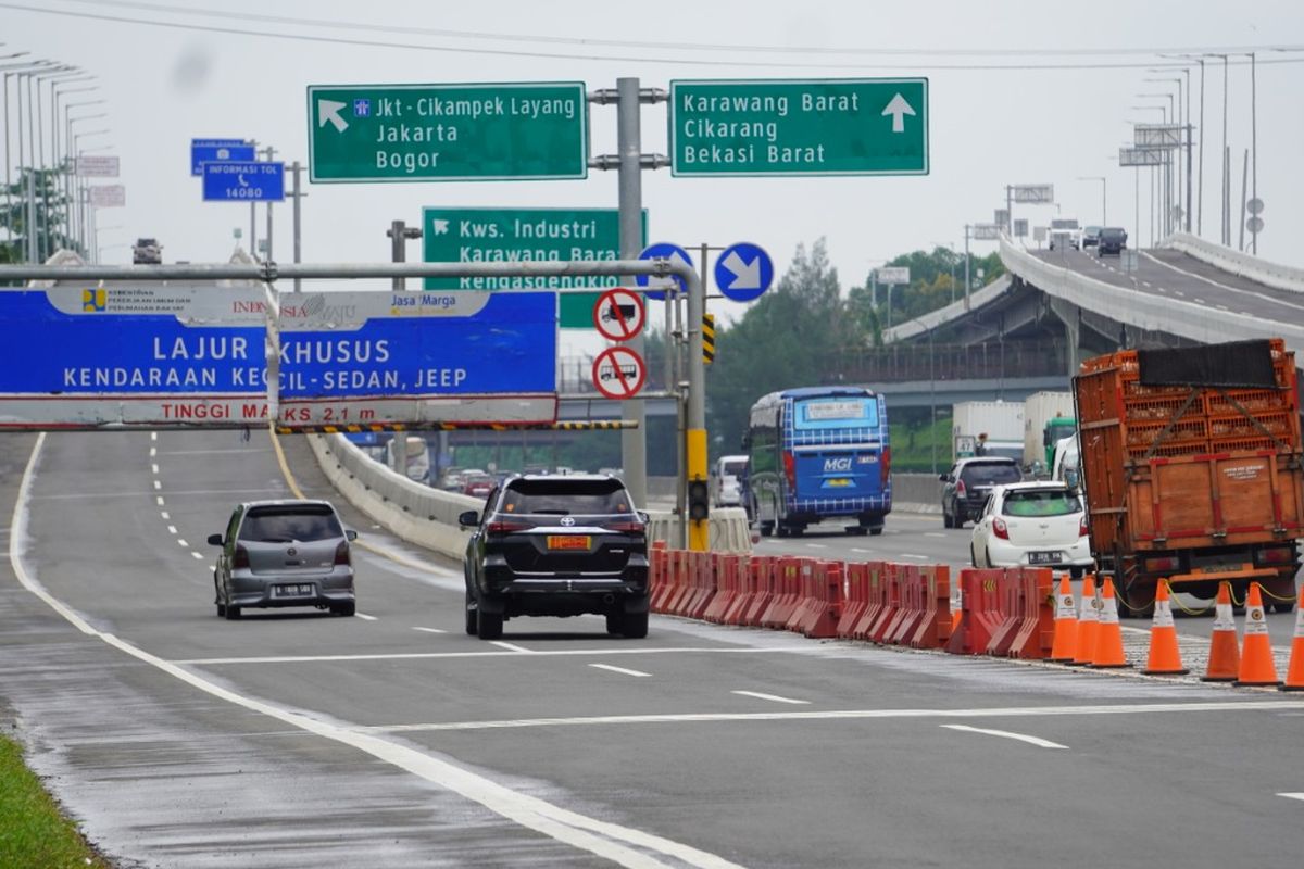
[[(257, 422), (265, 317), (253, 288), (0, 291), (0, 430)], [(556, 420), (554, 293), (297, 293), (278, 331), (291, 426)]]

